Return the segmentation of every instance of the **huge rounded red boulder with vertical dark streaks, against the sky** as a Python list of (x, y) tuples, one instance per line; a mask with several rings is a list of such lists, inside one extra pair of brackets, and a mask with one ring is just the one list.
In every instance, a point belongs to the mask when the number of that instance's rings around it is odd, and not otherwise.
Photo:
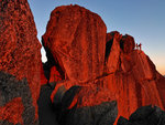
[(86, 82), (103, 73), (106, 31), (98, 14), (79, 6), (62, 6), (51, 13), (43, 45), (68, 80)]

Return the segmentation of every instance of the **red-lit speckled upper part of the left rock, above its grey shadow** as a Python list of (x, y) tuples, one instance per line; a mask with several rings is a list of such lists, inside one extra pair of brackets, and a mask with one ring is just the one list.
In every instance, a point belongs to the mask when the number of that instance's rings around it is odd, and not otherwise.
[(28, 0), (0, 0), (0, 71), (10, 73), (18, 80), (26, 77), (36, 118), (41, 74), (40, 49)]

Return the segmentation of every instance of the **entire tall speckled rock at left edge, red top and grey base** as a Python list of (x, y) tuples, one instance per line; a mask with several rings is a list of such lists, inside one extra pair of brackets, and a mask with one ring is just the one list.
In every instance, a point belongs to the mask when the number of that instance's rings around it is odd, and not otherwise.
[[(32, 125), (32, 123), (35, 123), (34, 121), (37, 121), (37, 104), (36, 101), (38, 98), (40, 94), (40, 65), (41, 65), (41, 44), (36, 38), (36, 29), (35, 23), (33, 20), (32, 12), (30, 10), (28, 0), (0, 0), (0, 71), (3, 71), (6, 73), (12, 74), (15, 76), (15, 81), (18, 81), (16, 85), (10, 91), (13, 93), (3, 95), (4, 90), (2, 93), (0, 93), (0, 96), (3, 96), (4, 98), (0, 100), (0, 106), (8, 106), (18, 103), (15, 106), (16, 108), (22, 108), (25, 106), (29, 100), (31, 100), (32, 104), (29, 107), (24, 107), (24, 110), (33, 110), (33, 114), (31, 114), (30, 117), (24, 116), (23, 123), (24, 125)], [(0, 75), (2, 79), (2, 76)], [(26, 91), (30, 87), (30, 92), (24, 92), (31, 94), (32, 97), (29, 98), (30, 95), (22, 95), (24, 93), (21, 92), (14, 92), (15, 88), (19, 88), (21, 86), (21, 80), (22, 79), (28, 80)], [(9, 79), (9, 77), (7, 77)], [(10, 81), (10, 80), (9, 80)], [(3, 82), (3, 81), (1, 81)], [(0, 85), (7, 86), (7, 88), (12, 83), (0, 83)], [(2, 87), (1, 87), (2, 88)], [(6, 90), (7, 92), (9, 90)], [(19, 94), (21, 93), (21, 94)], [(12, 98), (13, 97), (13, 98)], [(14, 100), (14, 97), (24, 97)], [(8, 98), (8, 100), (7, 100)], [(9, 104), (8, 102), (9, 101)], [(35, 108), (33, 108), (35, 107)], [(9, 106), (9, 111), (12, 110), (12, 106)], [(21, 111), (28, 112), (28, 111)], [(11, 112), (6, 114), (6, 117), (1, 117), (4, 114), (0, 112), (0, 121), (9, 121), (16, 124), (16, 118), (14, 121), (9, 119), (9, 117), (12, 117), (13, 114), (10, 114)], [(14, 112), (15, 114), (19, 114), (19, 111)], [(19, 114), (21, 115), (21, 114)], [(19, 116), (18, 116), (19, 117)], [(31, 123), (25, 122), (31, 121)], [(21, 119), (18, 121), (18, 123), (22, 122)]]

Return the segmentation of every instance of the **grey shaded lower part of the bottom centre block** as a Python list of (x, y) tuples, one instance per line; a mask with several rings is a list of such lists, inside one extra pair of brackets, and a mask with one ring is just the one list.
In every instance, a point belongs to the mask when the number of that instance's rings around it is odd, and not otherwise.
[(73, 108), (67, 114), (66, 125), (113, 125), (118, 115), (117, 102)]

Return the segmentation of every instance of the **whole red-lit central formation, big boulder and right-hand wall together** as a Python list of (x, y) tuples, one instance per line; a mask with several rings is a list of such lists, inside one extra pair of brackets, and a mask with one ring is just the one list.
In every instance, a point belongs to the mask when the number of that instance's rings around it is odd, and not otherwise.
[(61, 104), (67, 91), (78, 85), (80, 90), (70, 96), (68, 110), (114, 100), (118, 117), (128, 118), (136, 108), (150, 104), (164, 110), (165, 79), (143, 51), (134, 49), (133, 37), (117, 31), (107, 34), (96, 13), (78, 6), (56, 8), (43, 45), (63, 80), (53, 85), (51, 98), (55, 104)]

